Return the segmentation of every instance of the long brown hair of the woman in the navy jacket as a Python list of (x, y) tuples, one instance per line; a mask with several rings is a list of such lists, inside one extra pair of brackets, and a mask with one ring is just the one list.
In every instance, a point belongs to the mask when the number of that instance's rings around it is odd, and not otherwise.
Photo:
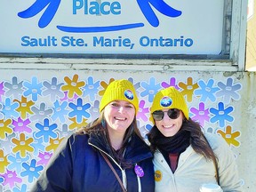
[(121, 148), (118, 149), (117, 151), (111, 147), (111, 142), (108, 135), (108, 129), (104, 119), (104, 109), (101, 111), (98, 119), (93, 121), (91, 124), (88, 124), (87, 126), (79, 129), (76, 132), (76, 134), (84, 135), (84, 134), (91, 134), (91, 133), (97, 133), (97, 132), (102, 132), (103, 134), (101, 135), (106, 135), (105, 142), (106, 142), (106, 145), (110, 147), (109, 155), (113, 156), (118, 162), (120, 162), (124, 168), (131, 167), (132, 164), (130, 164), (129, 162), (126, 162), (123, 157), (126, 144), (130, 140), (133, 133), (136, 134), (140, 138), (140, 140), (143, 140), (140, 134), (140, 130), (137, 126), (136, 116), (134, 116), (132, 124), (128, 127), (128, 129), (124, 133), (124, 140), (122, 142)]

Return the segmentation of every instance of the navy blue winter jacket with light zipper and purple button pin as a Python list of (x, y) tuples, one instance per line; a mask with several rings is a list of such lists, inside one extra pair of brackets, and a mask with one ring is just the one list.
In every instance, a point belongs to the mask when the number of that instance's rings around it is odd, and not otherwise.
[[(108, 154), (106, 144), (92, 133), (90, 136), (71, 135), (68, 140), (61, 142), (31, 191), (122, 191), (115, 174), (99, 150)], [(119, 178), (127, 182), (128, 192), (137, 192), (140, 189), (143, 192), (153, 192), (155, 190), (153, 156), (148, 145), (133, 134), (132, 140), (125, 149), (124, 158), (132, 162), (131, 169), (123, 170), (113, 158), (108, 156)], [(134, 172), (135, 164), (142, 167), (145, 173), (143, 177), (137, 177)]]

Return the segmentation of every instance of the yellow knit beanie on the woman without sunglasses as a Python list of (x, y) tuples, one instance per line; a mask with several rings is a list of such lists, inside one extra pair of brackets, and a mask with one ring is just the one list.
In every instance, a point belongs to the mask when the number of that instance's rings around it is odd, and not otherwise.
[(126, 100), (132, 103), (136, 114), (139, 110), (139, 100), (134, 86), (126, 79), (115, 80), (108, 84), (100, 101), (100, 112), (113, 100)]

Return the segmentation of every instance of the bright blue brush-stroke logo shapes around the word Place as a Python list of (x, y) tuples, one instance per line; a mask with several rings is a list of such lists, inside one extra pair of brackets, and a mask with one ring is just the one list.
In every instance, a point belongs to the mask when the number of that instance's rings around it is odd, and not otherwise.
[[(44, 13), (38, 21), (38, 27), (45, 28), (50, 24), (56, 12), (58, 11), (60, 2), (61, 0), (36, 0), (36, 2), (28, 7), (27, 10), (19, 12), (18, 16), (23, 19), (32, 18), (39, 12), (42, 12), (45, 8)], [(152, 7), (155, 7), (158, 12), (161, 12), (167, 17), (179, 17), (182, 13), (179, 10), (173, 9), (169, 4), (164, 3), (164, 0), (137, 0), (137, 3), (140, 7), (140, 11), (148, 20), (148, 23), (155, 28), (159, 25), (159, 20), (157, 19), (156, 13), (153, 11)], [(57, 26), (57, 28), (61, 31), (73, 33), (108, 32), (141, 27), (144, 27), (143, 23), (132, 23), (105, 27)]]

